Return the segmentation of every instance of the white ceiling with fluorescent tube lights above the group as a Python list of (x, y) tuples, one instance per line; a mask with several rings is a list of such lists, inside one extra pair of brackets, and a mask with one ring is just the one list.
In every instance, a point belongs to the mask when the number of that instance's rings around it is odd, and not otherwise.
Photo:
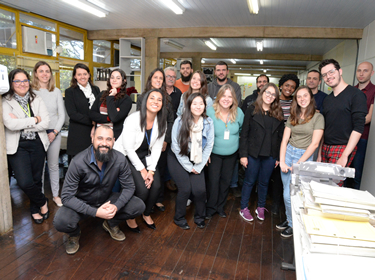
[[(87, 3), (85, 0), (77, 0)], [(364, 28), (375, 20), (373, 0), (259, 0), (258, 15), (249, 13), (246, 0), (179, 0), (185, 7), (183, 15), (175, 15), (160, 0), (98, 0), (109, 15), (98, 18), (70, 6), (61, 0), (6, 0), (4, 5), (69, 23), (87, 30), (128, 28), (185, 27), (332, 27)], [(183, 31), (182, 31), (183, 32)], [(208, 39), (208, 38), (207, 38)], [(161, 52), (213, 52), (201, 39), (173, 38), (184, 46), (182, 50), (167, 46), (161, 40)], [(217, 38), (218, 53), (256, 54), (256, 39)], [(265, 54), (323, 55), (341, 39), (262, 39)], [(208, 65), (218, 59), (205, 59)], [(285, 71), (297, 71), (311, 61), (265, 60), (264, 67), (284, 66)], [(232, 68), (259, 68), (259, 60), (238, 59)], [(202, 64), (203, 65), (203, 64)], [(264, 67), (262, 69), (264, 69)], [(293, 68), (294, 67), (294, 68)], [(282, 68), (282, 67), (281, 67)], [(293, 70), (294, 69), (294, 70)], [(272, 70), (271, 70), (272, 71)], [(278, 69), (278, 71), (283, 71)]]

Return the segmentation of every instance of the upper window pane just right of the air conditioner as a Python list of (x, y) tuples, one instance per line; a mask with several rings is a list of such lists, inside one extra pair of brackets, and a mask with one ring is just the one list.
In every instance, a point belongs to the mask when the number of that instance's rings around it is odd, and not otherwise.
[(83, 33), (60, 27), (61, 56), (83, 60)]

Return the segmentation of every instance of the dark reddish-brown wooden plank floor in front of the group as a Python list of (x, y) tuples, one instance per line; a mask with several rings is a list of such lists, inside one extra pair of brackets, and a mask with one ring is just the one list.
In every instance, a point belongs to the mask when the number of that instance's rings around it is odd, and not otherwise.
[[(51, 198), (49, 187), (46, 195)], [(228, 217), (215, 215), (204, 229), (196, 227), (194, 207), (188, 207), (191, 229), (184, 231), (173, 223), (176, 194), (166, 192), (166, 211), (152, 214), (157, 229), (139, 218), (140, 234), (121, 224), (123, 242), (110, 238), (102, 220), (88, 218), (81, 222), (75, 255), (65, 253), (67, 238), (53, 227), (58, 207), (51, 199), (50, 218), (37, 225), (15, 184), (11, 196), (14, 230), (0, 236), (0, 279), (295, 279), (295, 272), (280, 269), (282, 261), (293, 260), (293, 239), (275, 229), (285, 215), (267, 213), (263, 222), (245, 222), (238, 214), (240, 200), (232, 195)]]

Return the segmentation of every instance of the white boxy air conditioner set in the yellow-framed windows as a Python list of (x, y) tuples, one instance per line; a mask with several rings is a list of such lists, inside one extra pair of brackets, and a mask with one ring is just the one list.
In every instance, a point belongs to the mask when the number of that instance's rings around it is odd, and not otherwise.
[(22, 48), (23, 52), (52, 56), (52, 34), (22, 26)]

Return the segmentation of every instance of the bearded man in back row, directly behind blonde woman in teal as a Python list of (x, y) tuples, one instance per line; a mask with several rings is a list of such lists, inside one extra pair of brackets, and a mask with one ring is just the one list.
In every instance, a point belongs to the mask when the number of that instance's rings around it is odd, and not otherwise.
[(207, 86), (208, 94), (210, 95), (212, 100), (215, 100), (216, 95), (219, 92), (219, 89), (221, 88), (221, 86), (225, 84), (230, 84), (234, 88), (234, 91), (236, 93), (238, 107), (241, 108), (241, 101), (242, 101), (241, 88), (237, 83), (233, 82), (231, 79), (227, 77), (228, 72), (229, 72), (228, 64), (226, 64), (224, 61), (219, 61), (218, 63), (216, 63), (215, 65), (216, 79), (213, 80), (212, 83), (208, 84)]

